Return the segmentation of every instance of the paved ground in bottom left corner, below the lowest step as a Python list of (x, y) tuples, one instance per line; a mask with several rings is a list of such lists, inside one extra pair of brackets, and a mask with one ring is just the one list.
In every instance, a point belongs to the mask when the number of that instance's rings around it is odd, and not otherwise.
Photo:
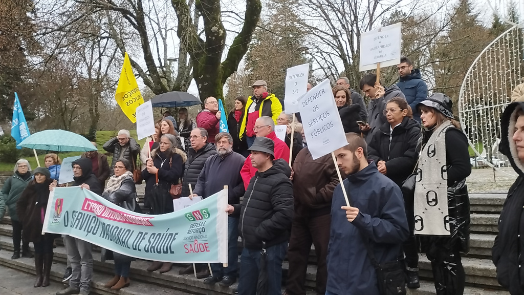
[(63, 284), (51, 282), (45, 288), (33, 288), (35, 277), (25, 272), (0, 266), (0, 294), (2, 295), (51, 295), (62, 290)]

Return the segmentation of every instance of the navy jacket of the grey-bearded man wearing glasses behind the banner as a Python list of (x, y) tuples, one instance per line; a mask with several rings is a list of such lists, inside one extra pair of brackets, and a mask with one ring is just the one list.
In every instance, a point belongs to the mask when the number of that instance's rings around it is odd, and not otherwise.
[(198, 176), (193, 193), (205, 199), (222, 191), (224, 185), (227, 185), (229, 204), (238, 204), (240, 197), (246, 192), (240, 175), (245, 161), (243, 155), (235, 152), (223, 157), (219, 154), (208, 157)]

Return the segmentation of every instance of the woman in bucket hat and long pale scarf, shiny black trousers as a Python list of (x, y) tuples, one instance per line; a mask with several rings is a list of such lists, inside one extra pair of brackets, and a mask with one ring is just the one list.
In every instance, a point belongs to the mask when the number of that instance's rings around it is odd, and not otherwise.
[(468, 142), (445, 94), (433, 93), (417, 107), (424, 132), (414, 188), (414, 233), (431, 261), (436, 294), (463, 294), (460, 253), (470, 250)]

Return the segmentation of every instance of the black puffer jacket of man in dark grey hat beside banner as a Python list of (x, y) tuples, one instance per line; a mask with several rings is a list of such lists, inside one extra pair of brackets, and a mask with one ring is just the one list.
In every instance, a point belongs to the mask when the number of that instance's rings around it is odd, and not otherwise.
[(251, 178), (242, 204), (235, 204), (234, 214), (240, 216), (238, 230), (244, 247), (258, 250), (262, 241), (267, 247), (289, 239), (293, 219), (293, 185), (291, 169), (286, 161), (277, 159), (267, 171)]

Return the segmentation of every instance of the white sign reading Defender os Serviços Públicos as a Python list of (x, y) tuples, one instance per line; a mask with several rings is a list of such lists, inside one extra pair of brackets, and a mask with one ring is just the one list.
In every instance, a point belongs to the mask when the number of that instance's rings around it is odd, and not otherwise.
[(313, 87), (298, 102), (305, 139), (313, 160), (347, 145), (329, 79)]

